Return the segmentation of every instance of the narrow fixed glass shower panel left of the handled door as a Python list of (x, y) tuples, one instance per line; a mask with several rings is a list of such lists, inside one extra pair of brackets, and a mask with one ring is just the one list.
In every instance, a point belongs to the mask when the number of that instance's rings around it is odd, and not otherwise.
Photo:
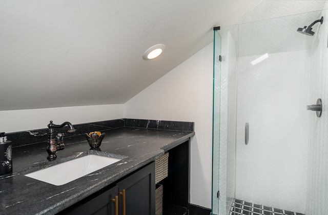
[[(229, 31), (228, 31), (229, 30)], [(220, 56), (215, 54), (213, 92), (213, 214), (229, 214), (235, 192), (236, 136), (236, 26), (215, 32)], [(219, 34), (218, 34), (219, 33)], [(217, 47), (215, 47), (217, 49)]]

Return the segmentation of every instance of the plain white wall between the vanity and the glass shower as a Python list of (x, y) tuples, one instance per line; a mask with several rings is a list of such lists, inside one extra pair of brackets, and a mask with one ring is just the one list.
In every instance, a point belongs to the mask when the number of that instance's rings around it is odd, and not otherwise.
[(213, 43), (138, 93), (126, 118), (195, 122), (191, 204), (211, 208)]

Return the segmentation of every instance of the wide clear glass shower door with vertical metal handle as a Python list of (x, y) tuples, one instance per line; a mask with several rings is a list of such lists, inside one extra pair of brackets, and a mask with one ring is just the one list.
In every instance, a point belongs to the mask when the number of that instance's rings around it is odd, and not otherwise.
[(305, 107), (310, 102), (315, 37), (296, 30), (320, 14), (239, 25), (236, 212), (305, 211), (309, 142)]

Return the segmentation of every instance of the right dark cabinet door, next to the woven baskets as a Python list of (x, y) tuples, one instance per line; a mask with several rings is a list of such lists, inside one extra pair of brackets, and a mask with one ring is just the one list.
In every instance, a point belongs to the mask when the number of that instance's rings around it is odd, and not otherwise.
[[(124, 198), (126, 215), (155, 214), (155, 163), (152, 162), (117, 183), (119, 195), (119, 214), (123, 214)], [(125, 197), (123, 196), (125, 190)]]

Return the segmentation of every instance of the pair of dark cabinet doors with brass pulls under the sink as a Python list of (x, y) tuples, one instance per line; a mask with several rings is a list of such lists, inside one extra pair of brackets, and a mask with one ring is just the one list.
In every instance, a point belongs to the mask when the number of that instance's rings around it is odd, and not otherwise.
[(59, 214), (155, 214), (154, 162)]

